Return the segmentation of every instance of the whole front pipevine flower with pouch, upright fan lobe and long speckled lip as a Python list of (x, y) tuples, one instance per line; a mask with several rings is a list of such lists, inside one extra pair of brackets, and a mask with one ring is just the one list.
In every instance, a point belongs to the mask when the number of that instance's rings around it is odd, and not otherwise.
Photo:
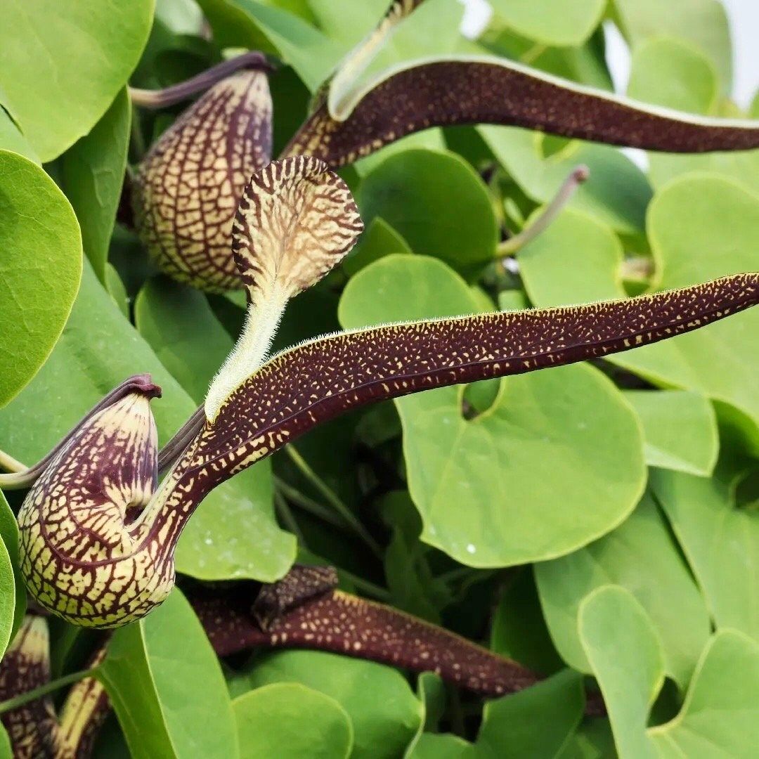
[[(11, 475), (17, 486), (36, 480), (18, 518), (20, 566), (42, 606), (96, 628), (150, 613), (172, 589), (175, 546), (203, 498), (346, 411), (604, 357), (759, 302), (759, 275), (737, 274), (622, 301), (342, 332), (267, 359), (288, 300), (342, 260), (360, 232), (348, 187), (320, 159), (296, 156), (254, 175), (232, 231), (248, 319), (204, 407), (159, 455), (149, 406), (159, 389), (136, 376), (41, 465)], [(168, 470), (160, 483), (159, 468)]]

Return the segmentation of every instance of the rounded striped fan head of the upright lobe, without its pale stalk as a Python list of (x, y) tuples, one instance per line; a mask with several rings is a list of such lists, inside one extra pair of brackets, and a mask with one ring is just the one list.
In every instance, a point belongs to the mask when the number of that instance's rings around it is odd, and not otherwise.
[(232, 251), (255, 305), (285, 298), (339, 263), (364, 229), (348, 185), (310, 156), (273, 161), (250, 179), (232, 226)]

